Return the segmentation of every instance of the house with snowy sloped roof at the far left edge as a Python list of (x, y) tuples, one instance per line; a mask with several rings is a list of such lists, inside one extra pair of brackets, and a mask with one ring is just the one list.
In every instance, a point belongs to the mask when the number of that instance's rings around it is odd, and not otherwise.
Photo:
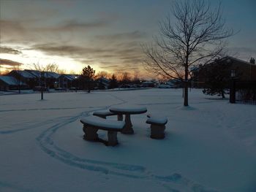
[(29, 88), (25, 82), (15, 79), (12, 76), (0, 76), (0, 91), (10, 91)]

